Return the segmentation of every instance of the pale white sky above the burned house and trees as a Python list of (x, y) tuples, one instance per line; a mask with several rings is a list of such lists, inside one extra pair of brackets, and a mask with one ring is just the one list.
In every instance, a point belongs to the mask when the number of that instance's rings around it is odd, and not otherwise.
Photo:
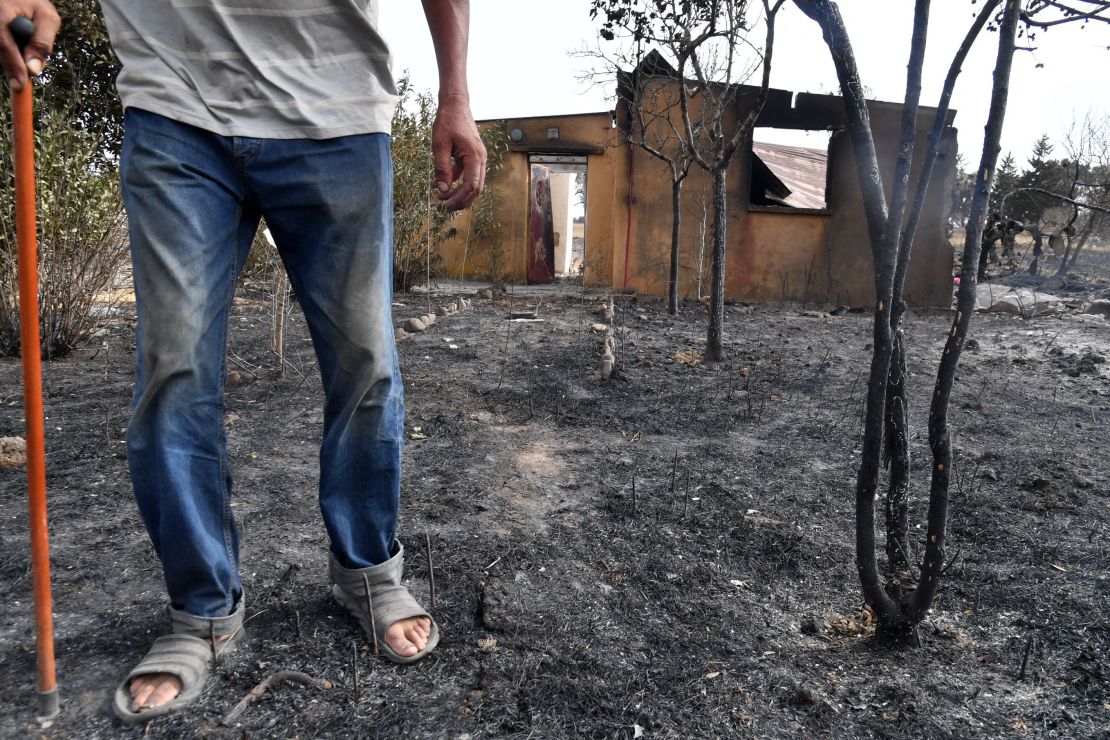
[[(870, 97), (900, 101), (912, 26), (911, 0), (841, 0), (862, 82)], [(930, 19), (921, 103), (935, 105), (952, 54), (978, 4), (936, 0)], [(415, 0), (381, 3), (382, 28), (394, 71), (407, 71), (417, 89), (435, 90), (438, 77), (427, 24)], [(612, 87), (582, 81), (594, 63), (573, 52), (597, 48), (588, 0), (472, 0), (471, 103), (478, 120), (585, 113), (613, 108)], [(960, 151), (978, 163), (987, 120), (997, 36), (983, 32), (957, 84)], [(1042, 133), (1062, 141), (1088, 114), (1110, 115), (1110, 27), (1073, 24), (1041, 32), (1037, 50), (1019, 52), (1011, 78), (1002, 152), (1025, 164)], [(836, 92), (836, 73), (817, 24), (787, 2), (776, 27), (771, 85), (796, 92)], [(791, 142), (787, 136), (761, 136)], [(1062, 145), (1053, 155), (1062, 156)]]

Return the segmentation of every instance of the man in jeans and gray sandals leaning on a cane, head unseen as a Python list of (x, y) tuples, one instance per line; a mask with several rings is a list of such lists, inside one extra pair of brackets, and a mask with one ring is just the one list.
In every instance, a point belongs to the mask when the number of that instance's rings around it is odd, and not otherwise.
[[(171, 633), (120, 685), (117, 714), (186, 706), (242, 633), (239, 543), (223, 434), (226, 322), (260, 217), (304, 310), (325, 391), (320, 507), (333, 595), (411, 662), (438, 641), (400, 585), (395, 539), (403, 396), (391, 318), (395, 84), (377, 0), (102, 0), (123, 64), (121, 180), (139, 314), (128, 460), (162, 561)], [(468, 0), (423, 0), (440, 68), (435, 187), (481, 191), (485, 150), (466, 83)], [(0, 0), (0, 28), (36, 23), (9, 85), (42, 71), (60, 20)]]

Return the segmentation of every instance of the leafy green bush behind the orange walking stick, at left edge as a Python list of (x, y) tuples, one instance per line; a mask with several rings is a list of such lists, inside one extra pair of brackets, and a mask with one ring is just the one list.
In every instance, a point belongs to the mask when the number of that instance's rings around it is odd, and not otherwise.
[[(104, 294), (128, 255), (117, 175), (122, 112), (112, 53), (94, 0), (58, 0), (64, 24), (36, 82), (39, 307), (42, 354), (57, 357), (110, 310)], [(0, 354), (19, 354), (11, 110), (0, 95)]]

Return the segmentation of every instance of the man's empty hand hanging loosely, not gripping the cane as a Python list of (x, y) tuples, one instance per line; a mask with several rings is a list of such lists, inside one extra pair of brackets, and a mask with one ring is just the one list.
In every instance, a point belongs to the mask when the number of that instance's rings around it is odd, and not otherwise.
[(473, 203), (485, 185), (486, 151), (465, 100), (441, 100), (432, 126), (432, 154), (436, 193), (447, 210)]

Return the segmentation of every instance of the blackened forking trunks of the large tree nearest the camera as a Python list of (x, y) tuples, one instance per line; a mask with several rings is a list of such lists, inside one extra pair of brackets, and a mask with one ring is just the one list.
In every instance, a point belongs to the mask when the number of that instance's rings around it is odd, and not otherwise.
[[(876, 567), (875, 558), (875, 493), (878, 487), (878, 473), (884, 452), (884, 432), (886, 432), (886, 399), (891, 377), (891, 358), (896, 353), (894, 327), (895, 320), (896, 273), (908, 254), (902, 249), (907, 242), (899, 239), (902, 231), (902, 212), (906, 203), (906, 182), (912, 156), (911, 139), (916, 138), (912, 130), (916, 123), (917, 85), (920, 69), (912, 64), (924, 59), (925, 43), (924, 22), (927, 19), (928, 0), (918, 0), (915, 18), (914, 42), (910, 53), (911, 67), (907, 81), (906, 115), (899, 162), (894, 183), (892, 207), (888, 212), (882, 181), (878, 171), (878, 159), (867, 115), (867, 102), (864, 99), (862, 87), (856, 70), (851, 43), (844, 28), (839, 10), (831, 0), (795, 0), (795, 3), (810, 18), (816, 20), (823, 30), (825, 41), (829, 47), (837, 75), (844, 94), (845, 111), (848, 120), (848, 131), (856, 151), (856, 163), (862, 191), (865, 214), (868, 221), (868, 232), (871, 242), (872, 264), (875, 267), (875, 286), (877, 305), (874, 325), (874, 352), (868, 378), (867, 410), (864, 429), (864, 449), (859, 474), (856, 481), (856, 565), (859, 571), (864, 597), (875, 610), (878, 627), (877, 637), (887, 642), (906, 643), (917, 640), (917, 625), (936, 596), (936, 588), (944, 569), (944, 530), (947, 521), (948, 476), (950, 474), (951, 450), (948, 443), (947, 407), (955, 378), (956, 361), (959, 346), (967, 333), (967, 324), (975, 302), (975, 273), (978, 267), (978, 250), (982, 240), (983, 211), (990, 192), (990, 182), (997, 164), (1001, 124), (1005, 119), (1007, 102), (1007, 85), (1013, 58), (1016, 28), (1021, 11), (1020, 0), (1006, 0), (1003, 21), (999, 32), (999, 61), (995, 72), (995, 90), (991, 98), (991, 115), (987, 125), (987, 141), (983, 146), (983, 162), (979, 168), (979, 181), (972, 202), (971, 220), (967, 235), (967, 252), (963, 261), (963, 276), (960, 285), (957, 316), (953, 322), (948, 346), (941, 359), (938, 372), (937, 389), (930, 407), (929, 434), (930, 447), (934, 452), (935, 468), (930, 487), (928, 540), (926, 543), (925, 561), (921, 564), (921, 576), (918, 589), (912, 598), (895, 600), (882, 587)], [(912, 116), (910, 115), (912, 113)], [(922, 183), (927, 185), (927, 183)], [(912, 217), (911, 217), (912, 221)], [(894, 233), (892, 233), (894, 232)], [(899, 286), (900, 298), (900, 286)], [(899, 310), (900, 311), (900, 310)], [(904, 345), (905, 337), (901, 337)], [(953, 344), (955, 343), (955, 344)], [(905, 381), (905, 373), (895, 373), (895, 377)], [(897, 414), (905, 413), (905, 406), (895, 409)], [(905, 428), (904, 416), (899, 423)], [(888, 509), (891, 518), (897, 518), (896, 508)], [(900, 547), (896, 547), (900, 549)], [(905, 555), (905, 554), (904, 554)]]

